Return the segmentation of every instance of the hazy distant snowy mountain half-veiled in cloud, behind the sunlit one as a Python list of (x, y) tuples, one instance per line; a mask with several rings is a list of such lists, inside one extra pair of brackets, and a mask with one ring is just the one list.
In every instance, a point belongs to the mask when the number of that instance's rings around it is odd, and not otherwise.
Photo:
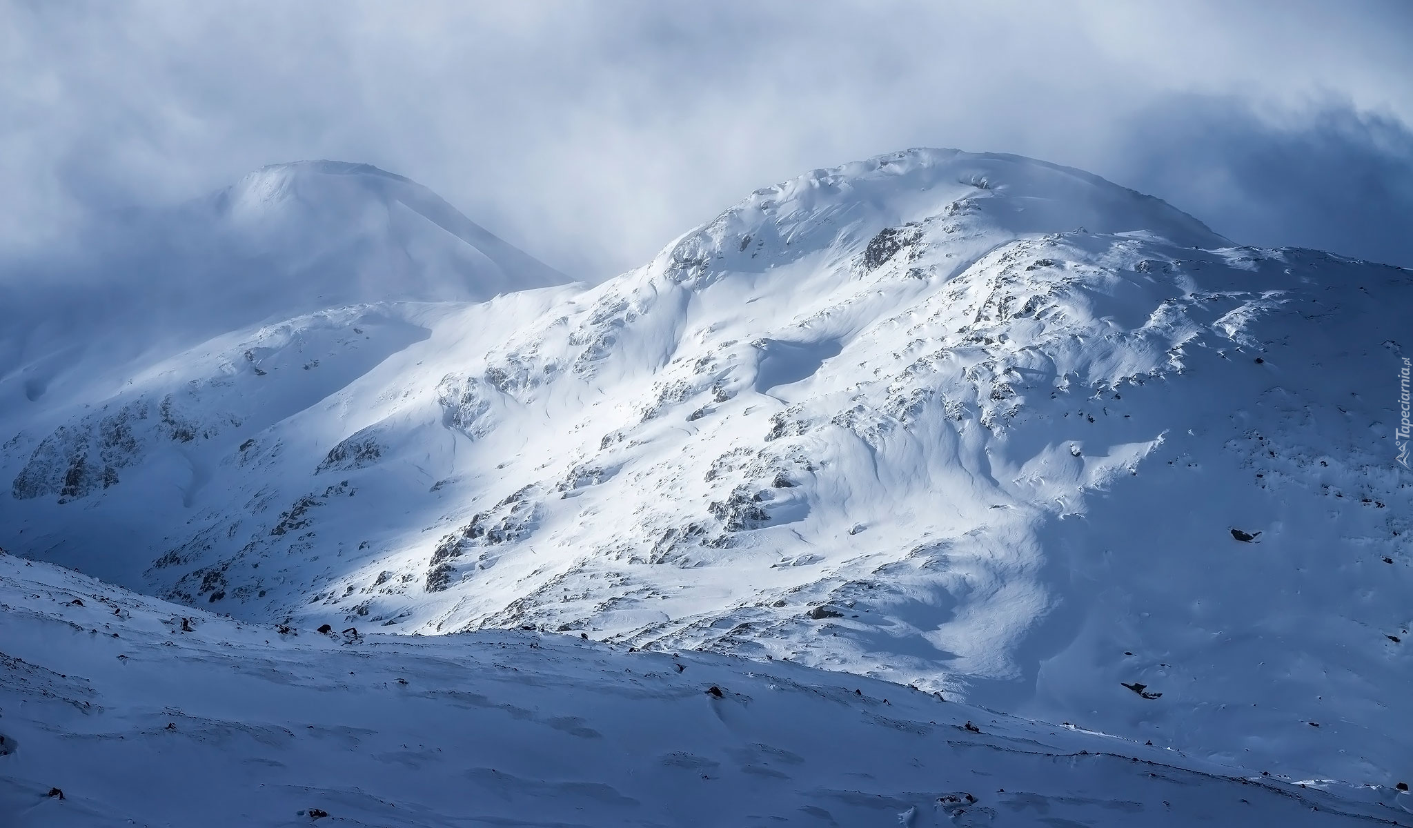
[(93, 403), (117, 377), (259, 322), (567, 281), (400, 175), (277, 164), (177, 208), (109, 216), (61, 254), (0, 261), (0, 408)]

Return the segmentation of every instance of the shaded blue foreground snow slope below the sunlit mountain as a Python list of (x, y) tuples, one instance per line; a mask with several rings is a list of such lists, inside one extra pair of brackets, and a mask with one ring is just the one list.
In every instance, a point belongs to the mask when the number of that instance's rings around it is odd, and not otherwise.
[(1413, 794), (1242, 774), (790, 664), (513, 632), (281, 633), (11, 555), (0, 610), (14, 828), (1413, 825)]

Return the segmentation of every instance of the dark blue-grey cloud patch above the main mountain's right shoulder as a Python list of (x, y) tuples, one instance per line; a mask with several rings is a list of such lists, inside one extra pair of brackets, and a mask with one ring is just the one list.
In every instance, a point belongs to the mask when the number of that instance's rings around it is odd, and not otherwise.
[(1113, 175), (1248, 244), (1413, 266), (1413, 131), (1330, 102), (1265, 119), (1229, 97), (1152, 106), (1118, 136)]

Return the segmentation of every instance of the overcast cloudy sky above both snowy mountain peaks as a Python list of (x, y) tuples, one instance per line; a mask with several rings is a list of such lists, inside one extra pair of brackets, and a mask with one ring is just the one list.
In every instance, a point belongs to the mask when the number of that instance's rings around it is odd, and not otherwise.
[(338, 158), (599, 280), (757, 187), (931, 146), (1413, 266), (1410, 44), (1409, 0), (0, 0), (0, 246)]

